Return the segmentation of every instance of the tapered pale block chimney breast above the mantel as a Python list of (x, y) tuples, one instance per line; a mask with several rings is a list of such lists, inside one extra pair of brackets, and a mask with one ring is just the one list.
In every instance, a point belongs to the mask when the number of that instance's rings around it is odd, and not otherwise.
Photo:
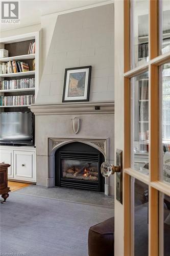
[(65, 69), (90, 65), (90, 101), (114, 100), (113, 4), (58, 16), (36, 103), (61, 102)]

